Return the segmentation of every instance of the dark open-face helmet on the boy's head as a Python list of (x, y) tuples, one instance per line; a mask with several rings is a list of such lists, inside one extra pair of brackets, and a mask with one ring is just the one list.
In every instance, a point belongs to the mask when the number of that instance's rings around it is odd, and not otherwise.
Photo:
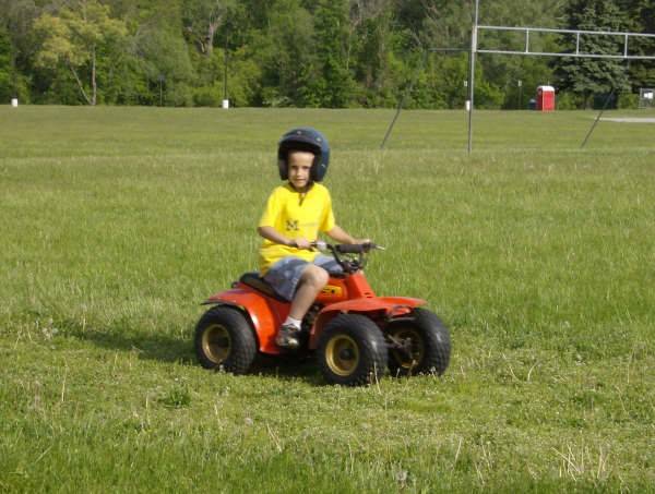
[(300, 126), (282, 136), (277, 143), (277, 166), (282, 180), (289, 178), (287, 155), (291, 149), (313, 153), (314, 160), (309, 177), (314, 182), (323, 180), (330, 165), (330, 144), (323, 134), (315, 129)]

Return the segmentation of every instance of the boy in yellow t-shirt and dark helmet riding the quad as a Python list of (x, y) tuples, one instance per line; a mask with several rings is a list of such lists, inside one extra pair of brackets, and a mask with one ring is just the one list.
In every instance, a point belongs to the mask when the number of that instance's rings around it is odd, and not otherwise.
[(271, 193), (259, 222), (258, 232), (264, 238), (260, 272), (281, 297), (291, 301), (275, 342), (295, 349), (302, 317), (327, 284), (329, 270), (341, 270), (332, 257), (312, 249), (319, 231), (338, 243), (369, 240), (354, 239), (334, 221), (330, 192), (318, 183), (330, 164), (323, 134), (310, 128), (290, 130), (278, 143), (277, 164), (279, 178), (288, 182)]

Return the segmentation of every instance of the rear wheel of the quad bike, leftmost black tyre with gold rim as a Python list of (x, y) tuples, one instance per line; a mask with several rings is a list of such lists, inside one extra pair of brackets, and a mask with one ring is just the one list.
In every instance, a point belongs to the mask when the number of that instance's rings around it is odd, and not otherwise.
[(198, 322), (195, 353), (205, 369), (245, 374), (254, 361), (257, 342), (243, 314), (219, 305), (210, 309)]

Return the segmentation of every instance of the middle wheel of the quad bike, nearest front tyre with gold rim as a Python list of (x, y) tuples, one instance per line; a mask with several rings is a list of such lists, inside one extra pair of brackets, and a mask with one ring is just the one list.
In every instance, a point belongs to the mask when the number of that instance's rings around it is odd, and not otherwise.
[(386, 372), (386, 344), (376, 323), (358, 314), (333, 318), (319, 339), (319, 365), (331, 384), (359, 386)]

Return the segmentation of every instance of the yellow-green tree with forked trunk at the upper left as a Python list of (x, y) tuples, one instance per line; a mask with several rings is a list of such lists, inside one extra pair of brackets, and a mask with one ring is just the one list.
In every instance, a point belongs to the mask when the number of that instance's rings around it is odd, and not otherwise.
[[(124, 23), (109, 17), (109, 8), (97, 0), (80, 0), (62, 8), (58, 15), (41, 14), (34, 29), (40, 39), (37, 65), (48, 69), (66, 65), (84, 100), (96, 105), (98, 57), (103, 49), (124, 39)], [(81, 79), (84, 72), (91, 87)]]

